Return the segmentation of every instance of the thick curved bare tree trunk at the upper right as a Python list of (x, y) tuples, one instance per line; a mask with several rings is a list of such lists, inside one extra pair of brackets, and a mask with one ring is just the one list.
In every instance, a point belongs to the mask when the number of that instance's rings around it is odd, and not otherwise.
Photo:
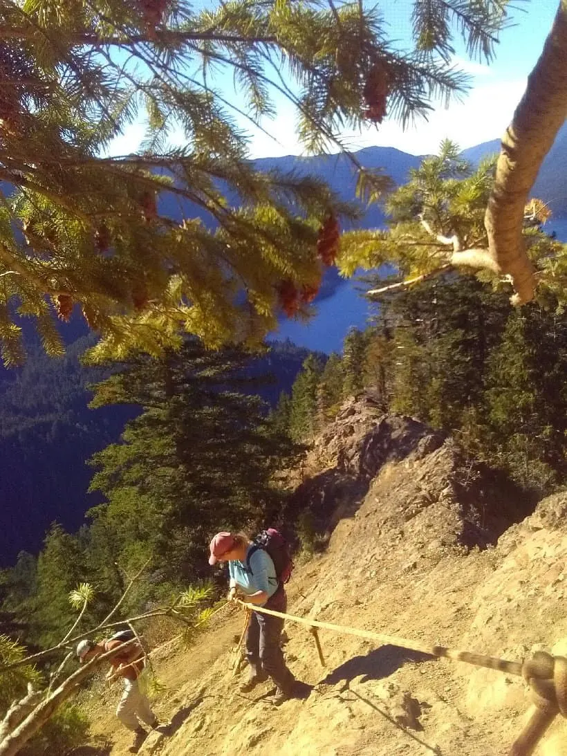
[(496, 180), (485, 215), (491, 256), (510, 274), (514, 304), (533, 299), (534, 268), (522, 239), (528, 193), (567, 115), (567, 0), (559, 2), (550, 34), (503, 135)]

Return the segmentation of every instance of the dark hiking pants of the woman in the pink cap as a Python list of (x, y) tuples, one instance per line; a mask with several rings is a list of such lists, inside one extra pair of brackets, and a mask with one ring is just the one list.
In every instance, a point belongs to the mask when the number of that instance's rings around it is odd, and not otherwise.
[[(287, 609), (285, 591), (277, 590), (265, 604), (265, 608), (273, 609), (274, 612), (285, 612)], [(280, 646), (282, 630), (282, 618), (253, 611), (246, 631), (246, 658), (255, 674), (265, 671), (280, 690), (290, 692), (293, 674), (283, 661)]]

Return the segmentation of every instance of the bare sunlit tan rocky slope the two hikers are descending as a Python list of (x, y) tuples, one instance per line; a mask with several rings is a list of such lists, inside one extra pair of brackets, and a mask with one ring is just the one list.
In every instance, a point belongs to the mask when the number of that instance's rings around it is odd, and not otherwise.
[[(327, 553), (296, 571), (290, 613), (513, 660), (567, 637), (567, 495), (522, 519), (528, 503), (450, 439), (366, 400), (347, 404), (319, 446), (324, 469), (310, 470), (302, 495), (333, 531)], [(311, 635), (291, 622), (287, 662), (301, 682), (276, 710), (268, 683), (236, 692), (240, 622), (229, 608), (193, 649), (156, 659), (168, 686), (156, 708), (172, 726), (142, 754), (486, 756), (506, 753), (525, 719), (521, 678), (330, 631), (320, 631), (321, 668)], [(94, 703), (95, 729), (112, 733)], [(113, 736), (114, 748), (84, 753), (117, 756), (125, 739)], [(537, 753), (567, 754), (562, 722)]]

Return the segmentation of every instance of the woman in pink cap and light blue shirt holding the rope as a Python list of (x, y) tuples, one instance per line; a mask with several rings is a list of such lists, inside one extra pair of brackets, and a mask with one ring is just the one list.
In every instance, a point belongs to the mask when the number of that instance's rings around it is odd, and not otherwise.
[[(270, 532), (270, 531), (268, 531)], [(254, 606), (285, 612), (287, 596), (283, 581), (278, 581), (274, 560), (265, 548), (243, 534), (217, 533), (210, 543), (209, 564), (228, 562), (230, 575), (228, 600), (236, 597)], [(280, 646), (283, 618), (251, 612), (246, 629), (246, 658), (249, 677), (240, 692), (253, 690), (258, 683), (274, 681), (276, 693), (271, 702), (279, 706), (292, 695), (295, 678), (283, 660)]]

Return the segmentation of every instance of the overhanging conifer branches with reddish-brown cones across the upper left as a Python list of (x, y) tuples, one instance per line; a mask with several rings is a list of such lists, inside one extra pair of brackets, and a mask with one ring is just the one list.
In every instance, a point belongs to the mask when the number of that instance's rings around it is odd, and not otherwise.
[[(212, 346), (259, 342), (280, 308), (308, 306), (347, 209), (313, 178), (259, 173), (241, 124), (264, 129), (283, 96), (317, 151), (387, 111), (423, 115), (466, 85), (454, 33), (490, 58), (506, 6), (415, 0), (408, 52), (376, 8), (350, 2), (0, 0), (5, 363), (23, 358), (14, 308), (51, 354), (62, 349), (53, 311), (82, 311), (104, 336), (98, 359), (132, 345), (158, 353), (183, 331)], [(141, 146), (110, 153), (136, 119)], [(361, 172), (361, 194), (386, 184)]]

